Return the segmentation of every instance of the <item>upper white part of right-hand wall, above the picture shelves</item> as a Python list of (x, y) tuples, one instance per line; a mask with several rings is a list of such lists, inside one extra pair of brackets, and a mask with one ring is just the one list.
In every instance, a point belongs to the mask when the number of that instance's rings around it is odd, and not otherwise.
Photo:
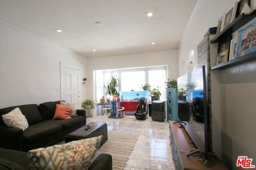
[[(189, 53), (194, 50), (195, 68), (197, 68), (197, 45), (202, 41), (210, 27), (216, 27), (218, 20), (223, 14), (232, 8), (235, 0), (198, 0), (198, 6), (187, 25), (183, 39), (178, 48), (179, 53), (179, 75), (182, 76), (188, 71), (184, 69)], [(189, 60), (190, 61), (190, 60)]]

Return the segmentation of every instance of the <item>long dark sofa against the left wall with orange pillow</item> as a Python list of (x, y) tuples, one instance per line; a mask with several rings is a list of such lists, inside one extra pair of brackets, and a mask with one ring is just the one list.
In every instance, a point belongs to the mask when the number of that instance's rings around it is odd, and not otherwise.
[[(0, 109), (0, 148), (20, 150), (28, 152), (32, 149), (48, 147), (68, 133), (86, 125), (86, 111), (77, 109), (72, 119), (56, 119), (54, 117), (56, 104), (60, 101), (45, 102), (40, 104), (28, 104), (12, 106)], [(25, 115), (28, 121), (28, 129), (23, 131), (16, 127), (7, 127), (2, 115), (9, 113), (16, 107)]]

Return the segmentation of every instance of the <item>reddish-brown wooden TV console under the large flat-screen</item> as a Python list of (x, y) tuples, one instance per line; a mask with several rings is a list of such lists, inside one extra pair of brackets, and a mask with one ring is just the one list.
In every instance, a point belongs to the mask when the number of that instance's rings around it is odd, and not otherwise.
[[(196, 159), (196, 156), (188, 156), (190, 152), (185, 152), (195, 148), (188, 134), (183, 127), (179, 127), (180, 123), (169, 121), (170, 123), (170, 146), (172, 148), (172, 156), (176, 170), (228, 170), (221, 160), (214, 159), (214, 166), (207, 167), (203, 160)], [(187, 122), (186, 122), (187, 123)], [(192, 128), (186, 124), (186, 129)]]

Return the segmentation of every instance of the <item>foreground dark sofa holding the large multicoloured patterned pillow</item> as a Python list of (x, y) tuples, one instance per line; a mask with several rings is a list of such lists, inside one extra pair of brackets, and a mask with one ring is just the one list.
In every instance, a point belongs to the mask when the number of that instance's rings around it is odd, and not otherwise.
[[(0, 148), (0, 170), (28, 170), (28, 153)], [(112, 170), (112, 156), (100, 154), (90, 165), (89, 170)]]

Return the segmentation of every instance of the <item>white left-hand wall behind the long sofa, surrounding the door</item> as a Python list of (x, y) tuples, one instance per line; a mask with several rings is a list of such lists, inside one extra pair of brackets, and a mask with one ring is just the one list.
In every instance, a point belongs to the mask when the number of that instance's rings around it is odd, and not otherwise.
[(86, 77), (86, 58), (0, 23), (0, 108), (60, 100), (61, 61)]

